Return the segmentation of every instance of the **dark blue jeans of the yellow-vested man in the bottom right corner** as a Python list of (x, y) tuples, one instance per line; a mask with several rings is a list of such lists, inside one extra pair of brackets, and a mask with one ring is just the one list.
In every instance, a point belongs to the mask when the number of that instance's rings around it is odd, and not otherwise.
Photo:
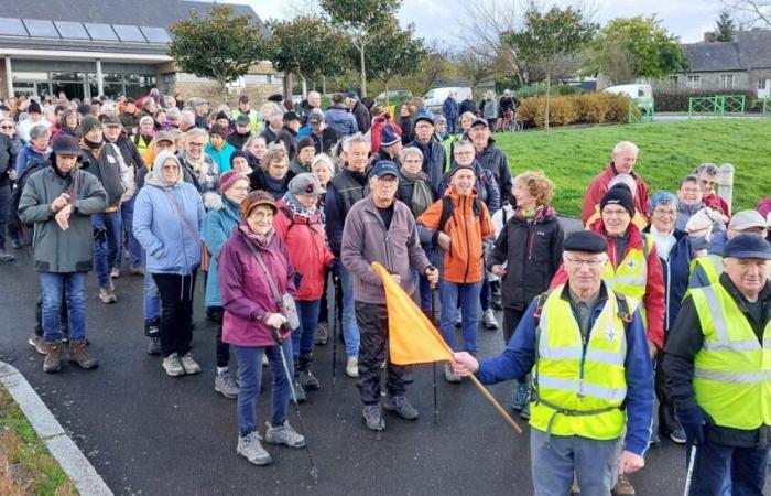
[[(728, 446), (709, 436), (698, 445), (691, 496), (759, 496), (765, 486), (768, 448)], [(691, 457), (691, 448), (687, 450)]]

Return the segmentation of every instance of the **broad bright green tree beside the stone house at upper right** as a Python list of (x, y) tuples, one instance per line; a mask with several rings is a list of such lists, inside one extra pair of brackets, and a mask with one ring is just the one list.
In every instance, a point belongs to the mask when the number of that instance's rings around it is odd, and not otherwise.
[[(627, 80), (618, 79), (619, 53), (629, 57), (632, 77), (661, 79), (683, 73), (688, 67), (680, 40), (662, 28), (655, 15), (609, 21), (589, 43), (586, 67), (593, 74), (615, 75), (616, 77), (611, 76), (615, 84), (626, 83)], [(625, 69), (622, 74), (627, 75), (628, 71)]]

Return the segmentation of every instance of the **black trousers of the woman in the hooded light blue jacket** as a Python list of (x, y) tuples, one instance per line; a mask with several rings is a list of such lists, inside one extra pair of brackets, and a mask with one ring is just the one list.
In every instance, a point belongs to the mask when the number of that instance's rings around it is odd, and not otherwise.
[(161, 296), (161, 349), (163, 357), (191, 351), (193, 342), (194, 271), (189, 276), (154, 273), (153, 281)]

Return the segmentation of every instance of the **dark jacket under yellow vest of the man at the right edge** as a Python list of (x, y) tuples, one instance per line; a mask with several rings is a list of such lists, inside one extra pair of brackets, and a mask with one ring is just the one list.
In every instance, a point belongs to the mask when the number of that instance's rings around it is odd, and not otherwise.
[[(771, 320), (771, 282), (765, 282), (765, 288), (758, 295), (763, 302), (763, 322), (756, 322), (747, 311), (745, 299), (734, 285), (728, 274), (720, 276), (720, 284), (736, 301), (745, 319), (748, 320), (756, 334), (762, 336), (765, 324)], [(670, 390), (672, 401), (680, 409), (693, 408), (697, 405), (693, 390), (694, 359), (704, 346), (704, 333), (696, 313), (693, 299), (686, 295), (683, 305), (677, 313), (672, 330), (666, 335), (664, 347), (663, 369), (666, 375), (666, 387)], [(708, 421), (704, 428), (704, 435), (710, 440), (729, 446), (769, 446), (771, 439), (768, 425), (761, 425), (754, 430), (732, 429), (716, 425)]]

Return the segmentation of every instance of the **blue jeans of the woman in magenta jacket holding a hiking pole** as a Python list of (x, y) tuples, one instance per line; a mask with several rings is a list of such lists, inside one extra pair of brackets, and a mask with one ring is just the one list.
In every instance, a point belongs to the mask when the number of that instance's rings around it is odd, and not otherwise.
[[(257, 399), (262, 386), (262, 354), (268, 355), (272, 377), (271, 406), (273, 413), (271, 424), (281, 425), (286, 421), (290, 401), (290, 381), (281, 360), (278, 346), (231, 346), (238, 360), (238, 432), (241, 436), (257, 429)], [(286, 357), (290, 377), (294, 375), (292, 360), (292, 342), (284, 339), (281, 348)]]

